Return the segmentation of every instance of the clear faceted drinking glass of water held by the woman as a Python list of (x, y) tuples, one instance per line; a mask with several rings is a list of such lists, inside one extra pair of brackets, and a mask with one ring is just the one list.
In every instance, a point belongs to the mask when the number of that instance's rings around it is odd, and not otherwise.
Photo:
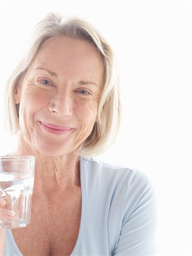
[[(30, 223), (31, 199), (34, 188), (35, 156), (0, 156), (0, 229), (21, 228)], [(5, 218), (4, 209), (14, 210)]]

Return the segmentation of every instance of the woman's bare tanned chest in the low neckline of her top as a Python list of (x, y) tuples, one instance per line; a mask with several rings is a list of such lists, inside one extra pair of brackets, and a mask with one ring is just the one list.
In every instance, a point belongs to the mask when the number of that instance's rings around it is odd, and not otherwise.
[(81, 197), (72, 202), (35, 205), (26, 228), (12, 234), (24, 255), (70, 255), (76, 245), (81, 221)]

